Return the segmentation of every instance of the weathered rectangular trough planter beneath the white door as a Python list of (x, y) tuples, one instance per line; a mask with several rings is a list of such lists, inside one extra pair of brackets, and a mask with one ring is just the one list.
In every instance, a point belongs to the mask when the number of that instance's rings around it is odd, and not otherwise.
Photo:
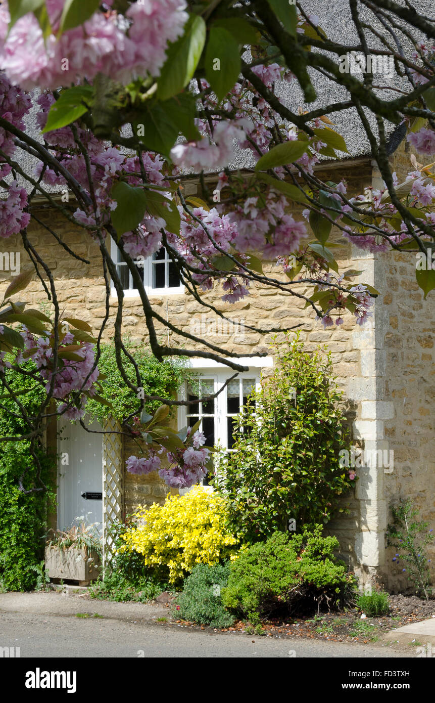
[(46, 547), (45, 567), (50, 579), (70, 579), (79, 581), (79, 586), (88, 586), (100, 575), (101, 562), (93, 550), (88, 550), (86, 557), (84, 549)]

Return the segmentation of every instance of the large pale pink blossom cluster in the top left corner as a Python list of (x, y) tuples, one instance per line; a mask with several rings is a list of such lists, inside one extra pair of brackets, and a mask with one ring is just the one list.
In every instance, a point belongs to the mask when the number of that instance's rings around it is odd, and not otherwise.
[(0, 5), (0, 64), (23, 89), (56, 89), (97, 73), (129, 82), (136, 76), (157, 77), (167, 44), (175, 41), (188, 20), (184, 0), (146, 0), (131, 4), (125, 17), (96, 11), (83, 26), (57, 37), (64, 0), (46, 0), (51, 34), (43, 36), (32, 13), (15, 22), (8, 33), (8, 3)]

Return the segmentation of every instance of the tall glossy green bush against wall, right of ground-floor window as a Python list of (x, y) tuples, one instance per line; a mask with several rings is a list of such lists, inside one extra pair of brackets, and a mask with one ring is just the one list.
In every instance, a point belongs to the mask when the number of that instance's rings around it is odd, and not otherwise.
[(353, 486), (339, 463), (350, 440), (330, 354), (307, 354), (298, 335), (275, 341), (275, 353), (274, 373), (238, 415), (235, 451), (212, 479), (233, 505), (231, 529), (249, 542), (286, 531), (291, 519), (297, 531), (329, 522)]

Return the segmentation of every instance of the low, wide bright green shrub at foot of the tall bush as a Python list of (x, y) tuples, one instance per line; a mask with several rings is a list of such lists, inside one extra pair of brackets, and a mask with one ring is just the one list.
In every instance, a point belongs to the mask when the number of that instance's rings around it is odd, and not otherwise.
[(268, 617), (334, 610), (351, 602), (353, 577), (333, 551), (337, 538), (322, 537), (322, 527), (291, 537), (275, 532), (231, 563), (223, 605), (253, 624)]

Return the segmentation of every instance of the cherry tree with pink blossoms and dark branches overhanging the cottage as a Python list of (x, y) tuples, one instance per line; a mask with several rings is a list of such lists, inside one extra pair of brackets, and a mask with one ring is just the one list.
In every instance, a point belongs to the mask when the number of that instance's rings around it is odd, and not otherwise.
[[(126, 262), (160, 361), (199, 356), (245, 370), (227, 352), (164, 319), (150, 304), (138, 271), (162, 246), (189, 294), (224, 318), (216, 299), (237, 302), (256, 284), (304, 299), (319, 323), (359, 325), (370, 317), (377, 291), (340, 271), (330, 242), (332, 226), (370, 252), (408, 251), (427, 257), (434, 243), (433, 164), (419, 163), (403, 183), (391, 172), (388, 146), (406, 138), (421, 160), (435, 153), (435, 24), (410, 2), (349, 0), (357, 44), (332, 41), (304, 0), (2, 0), (0, 2), (0, 236), (20, 236), (33, 269), (11, 281), (0, 309), (0, 380), (15, 400), (28, 432), (40, 441), (53, 414), (83, 423), (89, 397), (98, 395), (100, 342), (109, 318), (110, 280), (117, 292), (115, 349), (128, 387), (141, 376), (121, 334), (124, 291), (110, 254), (114, 240)], [(370, 15), (370, 22), (367, 20)], [(352, 75), (344, 57), (355, 52), (387, 57), (400, 87), (374, 84), (372, 72)], [(291, 110), (283, 95), (301, 91), (316, 100), (319, 77), (337, 84), (342, 101)], [(283, 91), (283, 86), (287, 89)], [(26, 128), (37, 111), (39, 138)], [(344, 180), (323, 182), (315, 166), (347, 152), (330, 117), (357, 120), (370, 142), (384, 186), (349, 195)], [(328, 117), (330, 115), (330, 117)], [(248, 150), (252, 168), (231, 168), (235, 151)], [(37, 165), (25, 167), (31, 155)], [(201, 198), (183, 195), (183, 177), (199, 174)], [(207, 174), (216, 174), (209, 188)], [(53, 197), (58, 189), (67, 202)], [(43, 195), (65, 221), (98, 243), (106, 314), (99, 330), (65, 318), (56, 280), (32, 243), (32, 202)], [(303, 214), (298, 215), (300, 206)], [(296, 210), (297, 207), (297, 210)], [(39, 221), (39, 220), (37, 220)], [(65, 257), (89, 264), (63, 243)], [(262, 260), (276, 263), (275, 275)], [(13, 301), (37, 276), (53, 316)], [(435, 288), (431, 264), (416, 271), (426, 295)], [(307, 286), (309, 293), (306, 293)], [(185, 338), (183, 347), (157, 340), (159, 323)], [(263, 332), (261, 327), (247, 327)], [(268, 330), (270, 331), (270, 330)], [(278, 330), (276, 330), (278, 331)], [(136, 382), (124, 365), (136, 368)], [(46, 400), (28, 415), (8, 370), (32, 375)], [(141, 407), (149, 399), (141, 397)], [(155, 399), (152, 396), (152, 399)], [(141, 434), (148, 450), (127, 464), (136, 473), (160, 470), (171, 486), (190, 486), (207, 472), (210, 448), (195, 427), (176, 434), (153, 417), (125, 418), (123, 432)], [(169, 468), (161, 468), (167, 453)], [(37, 460), (36, 456), (34, 457)], [(39, 486), (40, 487), (40, 486)]]

